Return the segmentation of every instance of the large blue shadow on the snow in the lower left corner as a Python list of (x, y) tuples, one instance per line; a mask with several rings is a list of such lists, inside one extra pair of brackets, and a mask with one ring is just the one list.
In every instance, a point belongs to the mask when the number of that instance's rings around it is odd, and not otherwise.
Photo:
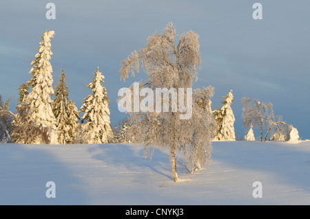
[[(43, 148), (44, 146), (42, 146)], [(0, 205), (85, 205), (81, 182), (54, 155), (17, 143), (0, 144)], [(47, 198), (48, 181), (56, 198)]]

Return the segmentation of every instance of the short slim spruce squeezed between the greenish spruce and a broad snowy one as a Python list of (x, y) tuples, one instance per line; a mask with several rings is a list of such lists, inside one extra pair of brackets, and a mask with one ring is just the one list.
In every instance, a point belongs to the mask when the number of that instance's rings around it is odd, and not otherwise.
[(68, 126), (69, 126), (69, 136), (70, 136), (70, 143), (74, 143), (76, 139), (76, 134), (79, 130), (79, 111), (76, 108), (75, 103), (73, 100), (68, 102)]

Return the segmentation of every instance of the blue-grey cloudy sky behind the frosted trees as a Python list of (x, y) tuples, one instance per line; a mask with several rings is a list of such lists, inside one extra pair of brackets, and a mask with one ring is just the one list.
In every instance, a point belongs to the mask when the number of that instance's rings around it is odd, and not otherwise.
[[(45, 18), (45, 5), (56, 5), (56, 19)], [(262, 3), (262, 20), (252, 17), (252, 5)], [(54, 85), (61, 68), (70, 99), (81, 107), (90, 94), (96, 67), (105, 76), (111, 122), (125, 115), (117, 108), (118, 89), (145, 78), (141, 71), (126, 82), (118, 73), (121, 61), (145, 46), (147, 36), (162, 32), (170, 21), (180, 34), (199, 34), (202, 65), (195, 88), (212, 85), (212, 109), (221, 106), (232, 89), (235, 130), (242, 127), (242, 97), (272, 102), (276, 115), (293, 124), (302, 139), (309, 132), (310, 1), (0, 1), (0, 93), (6, 100), (31, 78), (30, 62), (45, 30), (54, 30)], [(258, 138), (258, 130), (254, 130)]]

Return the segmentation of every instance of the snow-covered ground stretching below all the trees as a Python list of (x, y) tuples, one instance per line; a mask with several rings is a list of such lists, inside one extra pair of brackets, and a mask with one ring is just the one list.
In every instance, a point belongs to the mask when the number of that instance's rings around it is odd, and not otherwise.
[(169, 156), (145, 159), (143, 146), (0, 144), (0, 205), (310, 205), (310, 141), (213, 147), (211, 164), (195, 174), (178, 165), (174, 183)]

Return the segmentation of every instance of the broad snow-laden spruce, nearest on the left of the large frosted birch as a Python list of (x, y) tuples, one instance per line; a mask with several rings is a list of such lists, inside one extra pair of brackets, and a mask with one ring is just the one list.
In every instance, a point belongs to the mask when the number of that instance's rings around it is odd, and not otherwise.
[(92, 90), (92, 94), (84, 98), (83, 105), (79, 113), (84, 113), (82, 122), (87, 122), (88, 143), (107, 143), (112, 135), (110, 125), (110, 108), (107, 91), (101, 82), (105, 78), (101, 75), (99, 67), (94, 71), (94, 79), (90, 84), (85, 84)]

